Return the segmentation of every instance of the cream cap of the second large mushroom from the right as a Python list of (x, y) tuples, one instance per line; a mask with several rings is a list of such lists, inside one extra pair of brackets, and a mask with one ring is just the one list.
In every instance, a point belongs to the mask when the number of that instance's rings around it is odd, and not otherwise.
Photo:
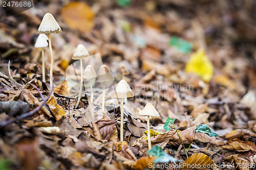
[(132, 98), (134, 93), (125, 80), (121, 80), (116, 86), (115, 98)]

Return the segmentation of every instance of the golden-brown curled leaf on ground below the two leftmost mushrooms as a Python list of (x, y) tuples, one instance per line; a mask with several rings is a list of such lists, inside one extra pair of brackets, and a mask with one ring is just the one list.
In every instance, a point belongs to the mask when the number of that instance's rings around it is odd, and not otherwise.
[(56, 120), (59, 120), (62, 116), (65, 116), (64, 109), (60, 105), (58, 105), (54, 95), (51, 96), (51, 98), (47, 101), (46, 104), (51, 109), (52, 114), (54, 115)]

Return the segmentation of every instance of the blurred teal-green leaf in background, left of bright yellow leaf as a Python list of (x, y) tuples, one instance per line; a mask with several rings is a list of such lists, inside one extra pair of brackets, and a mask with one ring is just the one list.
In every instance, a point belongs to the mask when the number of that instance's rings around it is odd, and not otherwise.
[(192, 44), (176, 36), (170, 38), (169, 44), (174, 46), (181, 53), (189, 53), (192, 49)]

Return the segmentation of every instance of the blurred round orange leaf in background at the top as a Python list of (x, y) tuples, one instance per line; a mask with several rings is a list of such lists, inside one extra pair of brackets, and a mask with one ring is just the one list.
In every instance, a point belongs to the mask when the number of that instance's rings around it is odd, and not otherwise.
[(72, 30), (87, 32), (94, 26), (94, 12), (86, 3), (69, 3), (61, 9), (61, 17)]

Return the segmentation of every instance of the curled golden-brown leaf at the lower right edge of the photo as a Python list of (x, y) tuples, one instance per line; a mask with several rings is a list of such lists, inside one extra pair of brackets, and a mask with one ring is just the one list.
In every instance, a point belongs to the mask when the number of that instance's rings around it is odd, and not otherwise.
[(230, 139), (228, 140), (226, 145), (222, 146), (222, 148), (238, 152), (244, 152), (249, 150), (256, 152), (255, 144), (250, 141), (242, 141), (240, 139)]

